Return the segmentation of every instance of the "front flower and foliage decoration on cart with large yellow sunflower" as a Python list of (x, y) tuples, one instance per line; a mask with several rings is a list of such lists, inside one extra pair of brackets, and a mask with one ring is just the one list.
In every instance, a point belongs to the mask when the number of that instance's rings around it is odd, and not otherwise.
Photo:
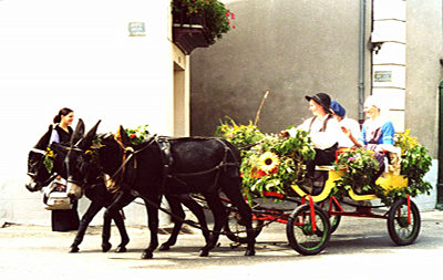
[(251, 123), (238, 125), (228, 120), (217, 127), (216, 135), (240, 149), (243, 190), (249, 200), (266, 191), (288, 194), (290, 185), (305, 176), (302, 163), (315, 157), (311, 139), (302, 131), (281, 138), (261, 133)]

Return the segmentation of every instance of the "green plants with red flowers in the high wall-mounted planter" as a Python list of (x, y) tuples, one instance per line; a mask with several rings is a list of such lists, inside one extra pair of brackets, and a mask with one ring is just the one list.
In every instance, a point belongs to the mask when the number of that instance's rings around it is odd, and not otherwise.
[(212, 43), (233, 28), (230, 21), (235, 19), (234, 13), (217, 0), (172, 0), (171, 6), (173, 11), (185, 10), (189, 17), (203, 15), (210, 31)]

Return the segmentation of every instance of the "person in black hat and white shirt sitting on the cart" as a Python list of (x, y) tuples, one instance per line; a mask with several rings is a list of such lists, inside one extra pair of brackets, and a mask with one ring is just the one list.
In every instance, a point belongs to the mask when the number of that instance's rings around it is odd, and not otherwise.
[[(331, 97), (328, 94), (317, 93), (313, 96), (305, 97), (309, 102), (309, 111), (313, 116), (306, 120), (297, 128), (282, 132), (281, 135), (295, 135), (297, 129), (309, 132), (316, 151), (316, 157), (313, 160), (306, 163), (307, 174), (301, 185), (311, 188), (316, 165), (329, 165), (333, 163), (336, 160), (336, 151), (344, 141), (344, 136), (338, 121), (331, 115)], [(312, 189), (312, 195), (317, 195), (319, 191), (321, 189)]]

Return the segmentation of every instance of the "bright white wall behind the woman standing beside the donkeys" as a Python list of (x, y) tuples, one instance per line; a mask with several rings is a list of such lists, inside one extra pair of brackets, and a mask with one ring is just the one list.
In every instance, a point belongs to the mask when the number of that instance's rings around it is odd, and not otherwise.
[(61, 107), (86, 129), (172, 133), (168, 20), (169, 1), (0, 1), (0, 219), (49, 225), (41, 194), (24, 188), (27, 156)]

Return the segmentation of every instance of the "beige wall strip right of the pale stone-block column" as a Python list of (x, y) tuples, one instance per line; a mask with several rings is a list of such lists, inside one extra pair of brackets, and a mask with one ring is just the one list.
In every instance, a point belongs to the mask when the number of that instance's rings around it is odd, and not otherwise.
[(405, 126), (437, 156), (439, 84), (443, 79), (443, 3), (440, 0), (406, 2)]

